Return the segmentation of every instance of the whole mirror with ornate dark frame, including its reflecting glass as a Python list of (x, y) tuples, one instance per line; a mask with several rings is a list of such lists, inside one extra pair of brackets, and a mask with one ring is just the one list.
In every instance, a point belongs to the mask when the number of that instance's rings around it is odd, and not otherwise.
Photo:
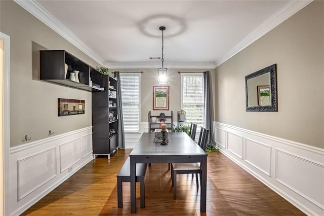
[(276, 64), (245, 77), (246, 111), (277, 112)]

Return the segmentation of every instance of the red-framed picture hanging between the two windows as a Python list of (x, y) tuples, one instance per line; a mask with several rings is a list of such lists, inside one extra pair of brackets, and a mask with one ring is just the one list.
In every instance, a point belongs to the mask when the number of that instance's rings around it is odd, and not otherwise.
[(169, 86), (153, 86), (153, 110), (169, 110)]

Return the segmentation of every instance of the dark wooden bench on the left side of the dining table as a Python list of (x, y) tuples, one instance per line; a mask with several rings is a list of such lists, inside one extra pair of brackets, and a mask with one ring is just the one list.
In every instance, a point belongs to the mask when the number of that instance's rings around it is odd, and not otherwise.
[[(136, 182), (140, 183), (141, 188), (141, 208), (145, 208), (145, 172), (146, 163), (136, 164)], [(117, 174), (117, 197), (118, 197), (118, 208), (123, 208), (123, 182), (131, 182), (131, 161), (128, 158), (123, 167)]]

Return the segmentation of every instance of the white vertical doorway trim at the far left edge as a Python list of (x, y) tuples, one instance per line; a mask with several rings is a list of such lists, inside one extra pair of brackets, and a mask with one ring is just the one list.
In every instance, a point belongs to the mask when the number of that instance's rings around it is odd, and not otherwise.
[(3, 196), (4, 196), (4, 215), (9, 215), (9, 149), (10, 149), (10, 116), (9, 116), (9, 75), (10, 75), (10, 36), (0, 31), (0, 38), (4, 40), (4, 152), (3, 152)]

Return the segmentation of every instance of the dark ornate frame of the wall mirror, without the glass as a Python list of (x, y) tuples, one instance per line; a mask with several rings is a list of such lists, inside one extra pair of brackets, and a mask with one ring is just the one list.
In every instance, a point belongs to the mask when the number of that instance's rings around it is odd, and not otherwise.
[[(267, 66), (250, 75), (245, 76), (246, 111), (247, 112), (278, 112), (277, 108), (277, 69), (276, 64)], [(270, 72), (271, 105), (248, 106), (248, 80)]]

